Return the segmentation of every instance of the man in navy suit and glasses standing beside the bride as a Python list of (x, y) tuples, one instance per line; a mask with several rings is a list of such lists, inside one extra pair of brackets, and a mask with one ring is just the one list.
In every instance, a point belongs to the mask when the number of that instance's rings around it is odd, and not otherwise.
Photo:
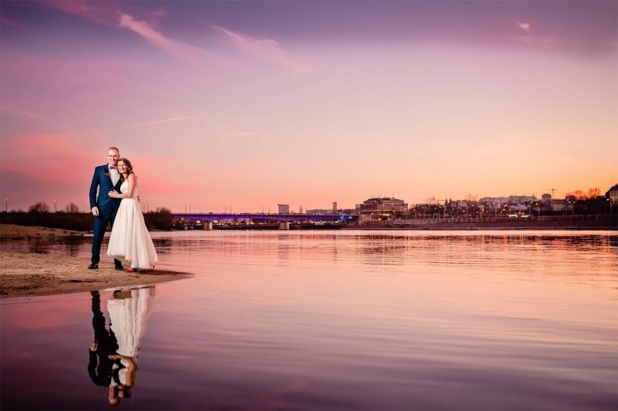
[[(115, 147), (110, 147), (107, 150), (107, 164), (95, 167), (94, 176), (92, 177), (92, 184), (90, 185), (90, 208), (92, 209), (92, 215), (94, 215), (95, 218), (95, 224), (93, 229), (94, 238), (92, 242), (92, 263), (88, 266), (89, 270), (99, 268), (99, 261), (101, 259), (101, 244), (107, 229), (107, 223), (114, 226), (116, 212), (118, 211), (118, 207), (122, 201), (119, 198), (111, 198), (107, 195), (107, 193), (112, 190), (120, 193), (122, 176), (116, 167), (116, 163), (119, 158), (119, 150)], [(98, 196), (97, 187), (99, 189)], [(124, 271), (122, 263), (117, 259), (114, 259), (114, 268), (116, 270)]]

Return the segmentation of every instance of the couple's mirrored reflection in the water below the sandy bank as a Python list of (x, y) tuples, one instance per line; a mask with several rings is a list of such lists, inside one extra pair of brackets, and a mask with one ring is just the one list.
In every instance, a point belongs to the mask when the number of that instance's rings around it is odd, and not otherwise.
[(92, 295), (92, 327), (88, 374), (97, 386), (108, 387), (108, 400), (118, 405), (131, 396), (137, 379), (139, 347), (152, 312), (155, 287), (116, 290), (107, 301), (109, 329), (101, 311), (101, 296)]

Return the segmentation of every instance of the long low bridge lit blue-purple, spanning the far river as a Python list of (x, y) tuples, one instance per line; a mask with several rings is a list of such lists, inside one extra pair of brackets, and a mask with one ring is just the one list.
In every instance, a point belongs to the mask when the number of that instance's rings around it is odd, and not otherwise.
[(279, 228), (288, 229), (290, 222), (331, 222), (349, 224), (358, 220), (358, 215), (350, 214), (271, 214), (271, 213), (177, 213), (172, 214), (174, 223), (191, 226), (193, 228), (212, 229), (213, 222), (220, 221), (251, 221), (278, 222)]

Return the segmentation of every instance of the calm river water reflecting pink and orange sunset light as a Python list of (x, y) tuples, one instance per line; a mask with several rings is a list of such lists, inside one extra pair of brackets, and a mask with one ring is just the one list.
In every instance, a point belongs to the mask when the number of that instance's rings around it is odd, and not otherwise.
[(616, 232), (153, 238), (162, 268), (196, 277), (0, 303), (0, 408), (111, 408), (108, 386), (129, 368), (113, 366), (111, 383), (89, 375), (93, 323), (109, 339), (110, 317), (114, 341), (139, 354), (119, 408), (617, 408)]

